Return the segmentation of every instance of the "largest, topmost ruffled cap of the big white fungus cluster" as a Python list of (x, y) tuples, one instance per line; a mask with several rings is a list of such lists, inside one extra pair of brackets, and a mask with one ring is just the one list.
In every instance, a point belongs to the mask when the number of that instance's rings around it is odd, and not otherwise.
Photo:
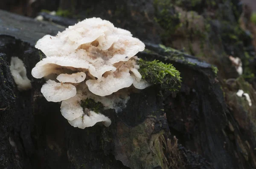
[(126, 62), (145, 49), (144, 43), (132, 37), (131, 32), (100, 18), (83, 20), (56, 37), (46, 35), (35, 47), (47, 56), (33, 68), (35, 78), (61, 74), (60, 68), (73, 67), (88, 69), (100, 79), (105, 72), (115, 71), (114, 63)]

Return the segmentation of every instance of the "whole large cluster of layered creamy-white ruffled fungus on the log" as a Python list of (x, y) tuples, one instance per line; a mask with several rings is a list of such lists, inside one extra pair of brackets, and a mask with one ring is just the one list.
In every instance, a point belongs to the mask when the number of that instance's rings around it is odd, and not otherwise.
[(93, 99), (104, 109), (119, 112), (130, 98), (122, 90), (131, 85), (138, 89), (150, 85), (142, 79), (135, 56), (144, 50), (144, 43), (107, 20), (83, 20), (55, 37), (44, 36), (35, 47), (46, 58), (35, 65), (32, 76), (57, 76), (61, 83), (49, 80), (41, 91), (47, 101), (62, 101), (61, 113), (74, 127), (111, 124), (105, 115), (81, 107), (82, 100)]

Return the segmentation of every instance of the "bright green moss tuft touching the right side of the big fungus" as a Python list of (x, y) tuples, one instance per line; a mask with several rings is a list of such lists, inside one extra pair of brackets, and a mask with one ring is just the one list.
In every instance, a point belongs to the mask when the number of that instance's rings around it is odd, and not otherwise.
[(164, 64), (158, 60), (152, 62), (138, 60), (139, 72), (147, 82), (160, 85), (163, 90), (177, 91), (181, 85), (180, 72), (172, 64)]

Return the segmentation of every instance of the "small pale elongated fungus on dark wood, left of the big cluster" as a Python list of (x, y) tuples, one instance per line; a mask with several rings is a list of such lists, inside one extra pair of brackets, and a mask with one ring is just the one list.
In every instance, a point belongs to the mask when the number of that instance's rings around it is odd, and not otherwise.
[(10, 70), (18, 90), (23, 91), (31, 88), (31, 82), (26, 76), (26, 68), (21, 59), (12, 57)]

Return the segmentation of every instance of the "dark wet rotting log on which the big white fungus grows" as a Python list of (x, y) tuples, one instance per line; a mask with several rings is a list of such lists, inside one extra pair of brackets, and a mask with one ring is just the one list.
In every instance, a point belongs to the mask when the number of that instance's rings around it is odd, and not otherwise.
[[(147, 43), (148, 50), (138, 56), (173, 63), (182, 76), (180, 91), (172, 96), (161, 95), (158, 86), (141, 90), (131, 94), (121, 113), (104, 112), (111, 118), (110, 127), (81, 130), (62, 117), (59, 104), (44, 99), (40, 92), (44, 80), (30, 74), (41, 57), (35, 42), (64, 28), (5, 11), (0, 11), (0, 23), (0, 168), (255, 167), (254, 152), (247, 162), (232, 140), (232, 135), (241, 139), (243, 135), (224, 103), (211, 65)], [(8, 67), (12, 56), (26, 65), (32, 90), (15, 89)]]

